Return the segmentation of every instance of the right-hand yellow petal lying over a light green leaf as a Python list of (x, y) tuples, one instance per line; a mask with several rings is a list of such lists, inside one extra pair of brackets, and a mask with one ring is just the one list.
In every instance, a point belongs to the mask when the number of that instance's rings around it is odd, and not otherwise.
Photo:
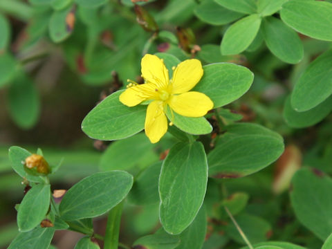
[(195, 91), (172, 95), (168, 104), (176, 113), (186, 117), (202, 117), (213, 108), (207, 95)]

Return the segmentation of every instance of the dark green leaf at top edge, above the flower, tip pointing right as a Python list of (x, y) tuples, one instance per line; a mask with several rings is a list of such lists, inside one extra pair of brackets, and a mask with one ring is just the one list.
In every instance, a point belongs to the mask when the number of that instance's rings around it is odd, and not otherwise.
[(202, 1), (194, 10), (199, 19), (207, 24), (224, 25), (243, 17), (242, 13), (223, 8), (213, 0)]

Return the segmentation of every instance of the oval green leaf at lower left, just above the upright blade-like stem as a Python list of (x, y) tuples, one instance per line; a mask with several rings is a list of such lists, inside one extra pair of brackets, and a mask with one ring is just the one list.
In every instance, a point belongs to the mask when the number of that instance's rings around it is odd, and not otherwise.
[(65, 221), (92, 218), (111, 210), (127, 196), (133, 176), (127, 172), (101, 172), (88, 176), (69, 189), (59, 205)]

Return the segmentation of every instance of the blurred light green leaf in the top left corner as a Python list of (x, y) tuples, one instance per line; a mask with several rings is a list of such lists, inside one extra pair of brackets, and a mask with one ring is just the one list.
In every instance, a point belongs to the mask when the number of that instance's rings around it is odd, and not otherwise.
[(21, 21), (28, 21), (33, 17), (33, 8), (17, 0), (0, 0), (0, 11), (17, 17)]

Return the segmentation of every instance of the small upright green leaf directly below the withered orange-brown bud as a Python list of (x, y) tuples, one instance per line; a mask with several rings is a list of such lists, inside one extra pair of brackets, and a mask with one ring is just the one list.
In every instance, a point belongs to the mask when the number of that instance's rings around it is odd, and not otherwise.
[(50, 208), (50, 185), (39, 183), (33, 186), (19, 205), (17, 225), (20, 232), (33, 230), (45, 219)]

